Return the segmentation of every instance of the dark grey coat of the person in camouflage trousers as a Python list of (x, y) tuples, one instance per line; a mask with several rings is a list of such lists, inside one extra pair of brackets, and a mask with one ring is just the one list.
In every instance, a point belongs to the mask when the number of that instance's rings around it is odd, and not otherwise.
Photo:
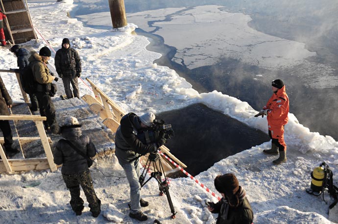
[[(94, 157), (96, 155), (95, 145), (88, 136), (82, 135), (80, 125), (63, 126), (61, 127), (61, 134), (64, 139), (70, 141), (88, 157)], [(64, 139), (58, 141), (53, 153), (54, 163), (57, 165), (62, 164), (61, 173), (74, 174), (88, 170), (86, 158), (72, 149)]]

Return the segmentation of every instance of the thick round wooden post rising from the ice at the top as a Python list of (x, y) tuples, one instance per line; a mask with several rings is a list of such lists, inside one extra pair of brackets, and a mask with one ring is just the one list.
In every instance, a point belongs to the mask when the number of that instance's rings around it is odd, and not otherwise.
[(125, 16), (124, 0), (108, 0), (108, 2), (113, 27), (120, 28), (126, 26), (127, 18)]

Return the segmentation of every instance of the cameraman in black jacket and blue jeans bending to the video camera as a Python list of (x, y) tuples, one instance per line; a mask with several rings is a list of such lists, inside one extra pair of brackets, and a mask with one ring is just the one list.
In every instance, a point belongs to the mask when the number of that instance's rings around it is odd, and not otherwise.
[(157, 148), (165, 143), (161, 138), (157, 143), (143, 143), (138, 132), (150, 130), (155, 119), (151, 112), (142, 116), (134, 113), (126, 114), (121, 119), (121, 125), (115, 135), (115, 154), (121, 164), (130, 186), (130, 213), (129, 216), (139, 221), (148, 217), (142, 213), (141, 207), (148, 206), (148, 202), (141, 199), (140, 190), (140, 163), (139, 158), (147, 153), (156, 153)]

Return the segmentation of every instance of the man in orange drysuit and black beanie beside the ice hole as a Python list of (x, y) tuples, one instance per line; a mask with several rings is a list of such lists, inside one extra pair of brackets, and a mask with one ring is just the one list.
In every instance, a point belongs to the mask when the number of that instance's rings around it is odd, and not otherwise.
[(255, 117), (266, 115), (269, 136), (272, 139), (271, 149), (263, 150), (269, 155), (278, 155), (279, 158), (272, 163), (279, 165), (287, 161), (287, 145), (284, 141), (284, 125), (288, 123), (289, 97), (285, 92), (285, 85), (282, 80), (272, 81), (272, 97), (263, 107), (263, 110)]

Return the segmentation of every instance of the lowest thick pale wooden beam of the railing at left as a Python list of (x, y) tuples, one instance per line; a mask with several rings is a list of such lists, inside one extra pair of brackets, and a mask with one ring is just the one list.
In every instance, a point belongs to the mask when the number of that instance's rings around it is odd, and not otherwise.
[[(33, 158), (25, 160), (8, 160), (12, 171), (29, 171), (49, 169), (47, 158)], [(7, 172), (3, 163), (0, 163), (0, 172)]]

